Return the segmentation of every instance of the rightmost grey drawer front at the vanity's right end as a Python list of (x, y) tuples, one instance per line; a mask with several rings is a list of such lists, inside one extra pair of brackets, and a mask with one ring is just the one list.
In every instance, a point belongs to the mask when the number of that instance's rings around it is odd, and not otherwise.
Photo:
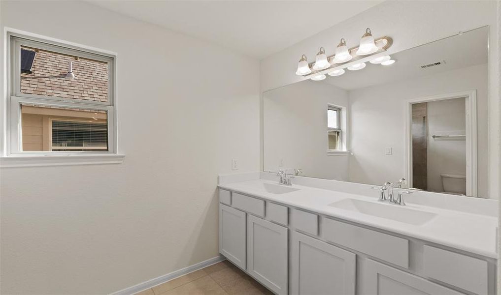
[(448, 284), (487, 294), (487, 261), (436, 248), (423, 247), (424, 274)]

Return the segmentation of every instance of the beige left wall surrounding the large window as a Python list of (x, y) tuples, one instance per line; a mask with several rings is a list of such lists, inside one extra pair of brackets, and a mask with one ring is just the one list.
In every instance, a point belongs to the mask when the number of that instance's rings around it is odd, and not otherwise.
[(85, 2), (0, 10), (1, 31), (118, 53), (126, 154), (0, 169), (2, 293), (110, 293), (216, 256), (217, 174), (259, 169), (259, 62)]

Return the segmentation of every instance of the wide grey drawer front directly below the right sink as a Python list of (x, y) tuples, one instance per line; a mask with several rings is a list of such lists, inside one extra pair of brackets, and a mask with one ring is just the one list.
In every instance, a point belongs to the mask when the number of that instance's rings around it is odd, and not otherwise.
[(405, 238), (329, 218), (323, 220), (323, 234), (328, 241), (409, 267), (409, 240)]

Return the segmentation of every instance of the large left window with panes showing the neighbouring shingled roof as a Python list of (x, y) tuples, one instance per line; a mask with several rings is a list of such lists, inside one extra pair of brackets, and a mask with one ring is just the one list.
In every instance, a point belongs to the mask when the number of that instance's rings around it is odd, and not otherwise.
[(116, 153), (115, 56), (9, 40), (7, 155)]

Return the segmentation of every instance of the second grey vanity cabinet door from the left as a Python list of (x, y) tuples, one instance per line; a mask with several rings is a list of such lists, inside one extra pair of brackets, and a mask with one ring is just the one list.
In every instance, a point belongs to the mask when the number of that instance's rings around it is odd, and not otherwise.
[(247, 271), (277, 294), (287, 294), (288, 229), (247, 215)]

